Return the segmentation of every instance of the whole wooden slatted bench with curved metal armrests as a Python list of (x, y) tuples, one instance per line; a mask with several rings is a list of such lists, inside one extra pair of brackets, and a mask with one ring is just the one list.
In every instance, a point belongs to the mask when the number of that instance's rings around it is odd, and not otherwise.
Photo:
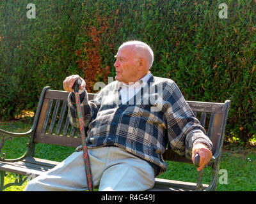
[[(89, 94), (89, 99), (92, 99), (94, 95), (95, 94)], [(1, 191), (9, 186), (21, 186), (29, 175), (36, 177), (58, 164), (56, 161), (35, 158), (36, 143), (47, 143), (65, 147), (77, 147), (81, 145), (81, 138), (79, 138), (76, 129), (70, 125), (67, 116), (67, 96), (68, 92), (50, 90), (50, 87), (44, 87), (36, 109), (32, 128), (28, 132), (10, 133), (0, 129), (0, 153), (4, 141), (8, 138), (29, 138), (28, 149), (22, 157), (17, 159), (0, 159)], [(211, 166), (212, 168), (211, 182), (210, 184), (200, 185), (200, 182), (198, 181), (198, 187), (201, 187), (201, 190), (214, 191), (216, 190), (216, 182), (218, 179), (221, 147), (223, 145), (223, 136), (228, 110), (230, 108), (230, 101), (225, 101), (225, 103), (187, 102), (196, 114), (196, 117), (198, 117), (198, 120), (200, 120), (201, 124), (207, 130), (207, 135), (211, 138), (213, 143), (212, 158), (208, 164), (208, 166)], [(192, 163), (189, 159), (175, 154), (172, 150), (168, 149), (168, 147), (166, 148), (163, 157), (165, 160)], [(17, 173), (19, 179), (4, 185), (4, 175), (6, 175), (6, 171)], [(24, 177), (24, 175), (26, 177)], [(154, 188), (150, 189), (150, 191), (193, 190), (196, 190), (196, 183), (167, 179), (156, 179)]]

